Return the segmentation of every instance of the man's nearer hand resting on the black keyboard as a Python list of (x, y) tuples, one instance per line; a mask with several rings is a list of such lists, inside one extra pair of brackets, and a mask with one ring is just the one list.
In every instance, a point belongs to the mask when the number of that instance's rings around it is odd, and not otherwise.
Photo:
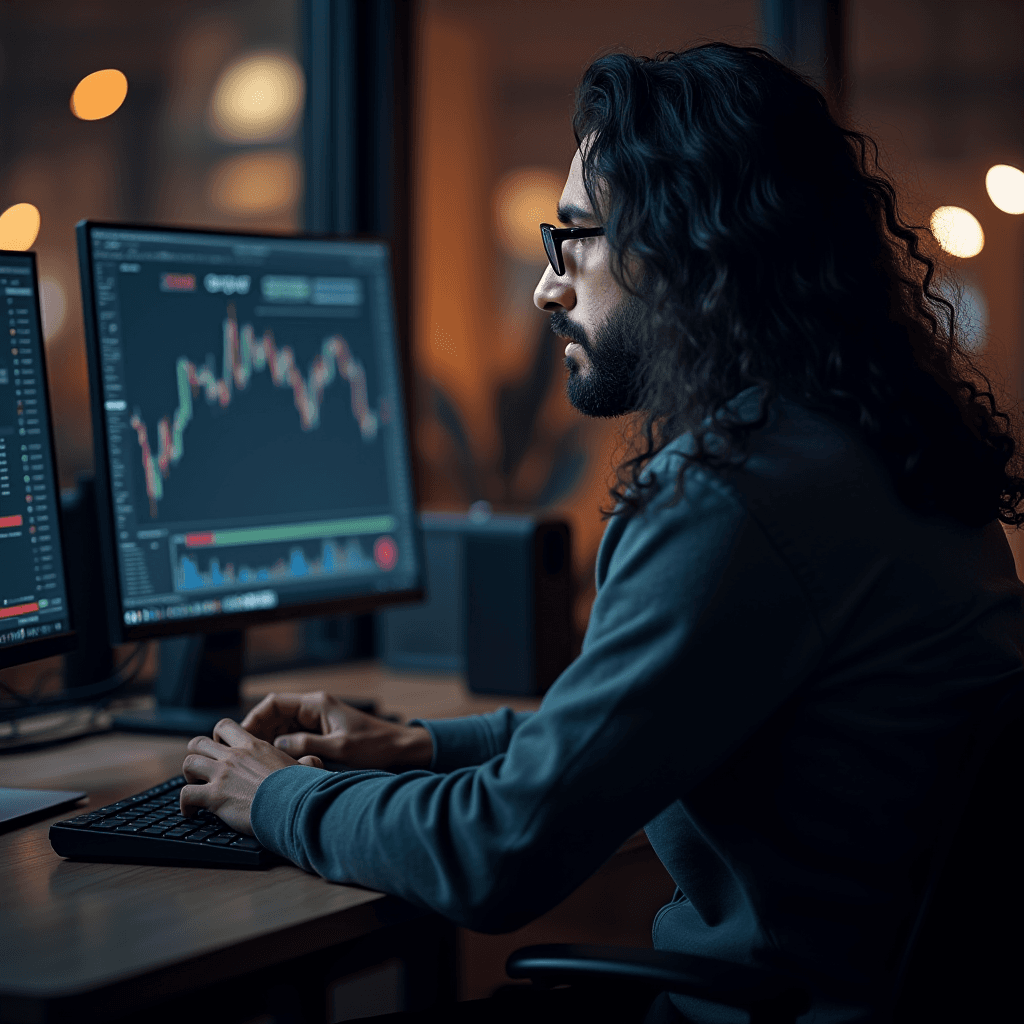
[(194, 817), (196, 811), (205, 807), (226, 825), (247, 836), (253, 835), (249, 822), (253, 798), (267, 775), (296, 764), (324, 767), (319, 758), (290, 758), (229, 718), (222, 718), (216, 724), (213, 736), (213, 739), (196, 736), (188, 740), (190, 753), (181, 770), (189, 784), (181, 790), (181, 813)]

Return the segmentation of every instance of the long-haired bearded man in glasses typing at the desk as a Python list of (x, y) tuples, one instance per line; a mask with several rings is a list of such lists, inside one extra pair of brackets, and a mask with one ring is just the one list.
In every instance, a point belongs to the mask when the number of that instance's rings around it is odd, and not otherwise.
[(534, 715), (268, 697), (189, 743), (182, 808), (483, 931), (646, 827), (679, 887), (655, 946), (797, 976), (804, 1021), (874, 1019), (969, 723), (1022, 688), (1008, 420), (869, 143), (768, 54), (602, 57), (573, 127), (535, 301), (572, 403), (646, 441), (580, 657)]

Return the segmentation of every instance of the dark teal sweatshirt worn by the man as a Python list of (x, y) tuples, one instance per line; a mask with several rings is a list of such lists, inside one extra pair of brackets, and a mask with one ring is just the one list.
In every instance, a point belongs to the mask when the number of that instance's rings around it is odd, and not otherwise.
[(866, 1021), (957, 765), (1024, 685), (1024, 588), (997, 523), (911, 512), (831, 419), (776, 402), (742, 468), (688, 470), (673, 504), (689, 440), (648, 465), (646, 512), (610, 520), (583, 651), (540, 711), (422, 723), (429, 771), (274, 772), (253, 828), (501, 932), (646, 827), (678, 885), (655, 946), (796, 974), (802, 1022)]

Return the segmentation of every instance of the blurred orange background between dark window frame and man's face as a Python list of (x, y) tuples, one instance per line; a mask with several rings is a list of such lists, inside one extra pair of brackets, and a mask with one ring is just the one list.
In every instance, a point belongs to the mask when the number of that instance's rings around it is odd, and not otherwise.
[(626, 421), (588, 420), (569, 406), (564, 345), (532, 304), (545, 265), (538, 224), (555, 220), (574, 150), (573, 90), (609, 49), (651, 54), (759, 34), (755, 0), (422, 4), (414, 350), (423, 497), (437, 508), (486, 500), (566, 518), (580, 636)]

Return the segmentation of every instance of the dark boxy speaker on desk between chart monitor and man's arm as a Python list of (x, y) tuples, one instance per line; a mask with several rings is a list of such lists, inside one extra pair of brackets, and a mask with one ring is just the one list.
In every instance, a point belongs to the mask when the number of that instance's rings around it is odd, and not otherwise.
[(572, 660), (568, 523), (420, 513), (427, 600), (377, 612), (384, 663), (459, 672), (474, 693), (544, 693)]

